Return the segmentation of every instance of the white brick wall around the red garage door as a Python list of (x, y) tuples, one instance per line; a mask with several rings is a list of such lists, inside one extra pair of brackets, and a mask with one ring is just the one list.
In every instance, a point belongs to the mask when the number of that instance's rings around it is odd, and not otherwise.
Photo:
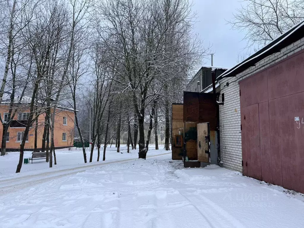
[[(255, 66), (248, 68), (236, 77), (220, 80), (221, 94), (224, 93), (224, 105), (219, 105), (220, 153), (224, 167), (242, 172), (242, 140), (240, 116), (239, 81), (285, 59), (304, 49), (304, 38), (272, 54)], [(226, 83), (229, 82), (229, 86)], [(221, 96), (219, 96), (221, 99)]]

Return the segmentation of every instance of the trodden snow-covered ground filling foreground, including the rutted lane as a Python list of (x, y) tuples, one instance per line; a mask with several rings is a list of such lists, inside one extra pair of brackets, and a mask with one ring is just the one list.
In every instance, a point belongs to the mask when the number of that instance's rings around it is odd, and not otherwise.
[(302, 194), (171, 154), (120, 159), (2, 178), (0, 227), (303, 227)]

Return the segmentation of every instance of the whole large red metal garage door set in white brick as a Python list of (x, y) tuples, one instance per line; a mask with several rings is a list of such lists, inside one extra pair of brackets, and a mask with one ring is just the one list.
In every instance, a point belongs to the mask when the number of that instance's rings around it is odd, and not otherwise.
[(240, 92), (244, 175), (304, 193), (304, 52), (240, 81)]

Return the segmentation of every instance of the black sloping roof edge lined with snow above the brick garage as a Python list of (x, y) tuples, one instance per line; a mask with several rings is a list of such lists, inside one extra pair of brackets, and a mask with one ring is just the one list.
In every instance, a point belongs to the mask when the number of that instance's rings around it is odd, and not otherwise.
[(263, 58), (276, 52), (279, 52), (284, 47), (287, 47), (291, 43), (294, 43), (295, 41), (301, 39), (302, 37), (304, 37), (303, 31), (301, 31), (301, 29), (304, 30), (304, 20), (293, 26), (291, 29), (289, 29), (281, 36), (273, 40), (271, 43), (258, 50), (256, 53), (254, 53), (247, 59), (243, 60), (242, 62), (231, 67), (229, 70), (225, 71), (223, 74), (219, 75), (217, 79), (219, 80), (224, 77), (235, 76), (236, 74), (239, 74), (248, 69), (249, 67), (253, 66)]

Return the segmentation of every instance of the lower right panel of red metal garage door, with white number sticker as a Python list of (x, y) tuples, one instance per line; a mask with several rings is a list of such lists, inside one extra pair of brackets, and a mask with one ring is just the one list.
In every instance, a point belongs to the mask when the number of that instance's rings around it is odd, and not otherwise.
[(278, 110), (283, 186), (304, 192), (304, 92), (279, 98)]

